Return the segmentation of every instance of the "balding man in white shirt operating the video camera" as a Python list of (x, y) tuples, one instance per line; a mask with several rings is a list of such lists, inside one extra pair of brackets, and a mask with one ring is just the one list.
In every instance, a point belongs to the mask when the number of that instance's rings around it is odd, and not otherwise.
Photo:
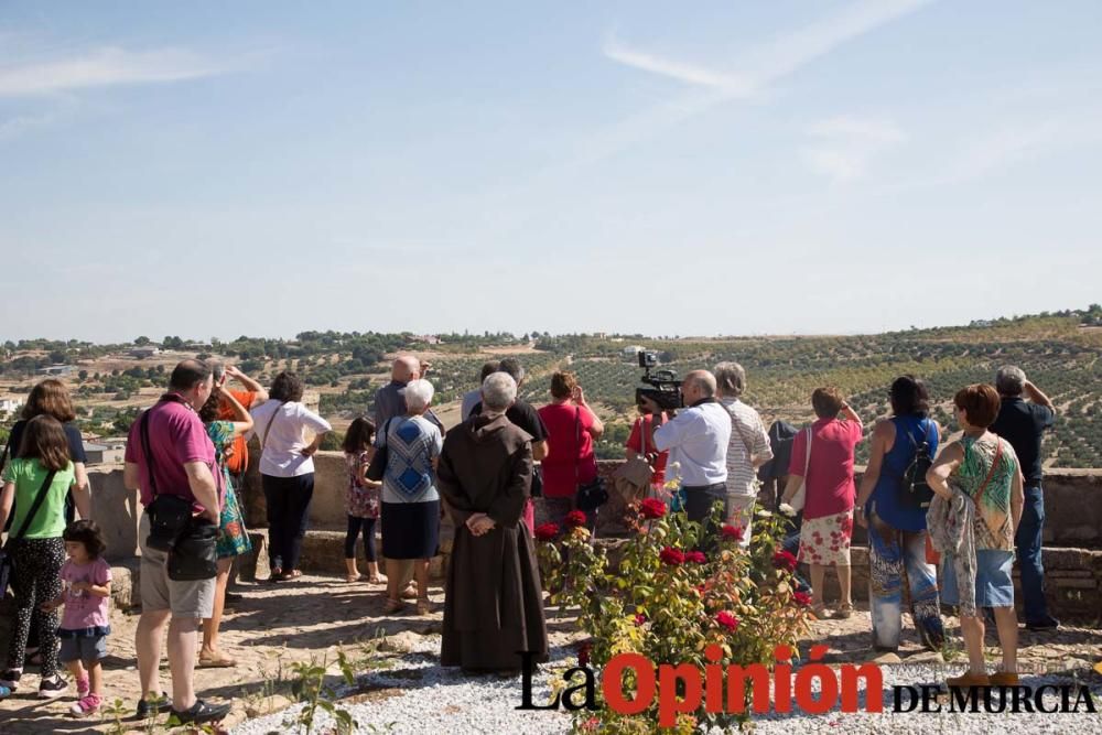
[(731, 414), (715, 398), (715, 376), (707, 370), (693, 370), (681, 382), (681, 394), (688, 407), (670, 412), (666, 421), (662, 409), (652, 399), (639, 402), (655, 417), (651, 442), (659, 452), (670, 453), (670, 465), (680, 465), (681, 488), (685, 491), (689, 520), (702, 521), (715, 501), (723, 502), (727, 517), (727, 443), (731, 441)]

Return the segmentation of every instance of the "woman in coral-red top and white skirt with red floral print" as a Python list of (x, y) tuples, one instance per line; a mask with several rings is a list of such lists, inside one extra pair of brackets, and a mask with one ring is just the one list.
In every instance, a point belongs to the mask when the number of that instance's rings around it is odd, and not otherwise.
[[(836, 388), (817, 388), (811, 406), (819, 420), (811, 424), (811, 453), (808, 432), (801, 431), (792, 443), (785, 502), (789, 502), (802, 480), (806, 485), (803, 525), (800, 527), (800, 561), (811, 565), (812, 612), (830, 617), (823, 603), (827, 568), (833, 566), (842, 601), (834, 617), (853, 614), (850, 597), (850, 539), (853, 536), (853, 450), (861, 442), (864, 428)], [(841, 414), (841, 418), (839, 418)]]

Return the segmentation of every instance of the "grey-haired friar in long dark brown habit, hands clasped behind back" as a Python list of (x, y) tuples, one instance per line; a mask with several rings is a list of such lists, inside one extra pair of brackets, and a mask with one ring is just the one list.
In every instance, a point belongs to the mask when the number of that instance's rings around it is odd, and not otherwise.
[(505, 417), (517, 397), (508, 374), (490, 375), (482, 392), (482, 414), (447, 432), (436, 471), (455, 522), (440, 658), (464, 670), (515, 673), (520, 651), (548, 659), (540, 573), (521, 520), (532, 437)]

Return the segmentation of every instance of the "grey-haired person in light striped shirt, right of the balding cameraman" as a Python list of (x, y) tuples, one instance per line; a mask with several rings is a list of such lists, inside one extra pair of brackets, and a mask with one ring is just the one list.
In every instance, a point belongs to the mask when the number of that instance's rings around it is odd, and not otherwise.
[(754, 502), (757, 500), (757, 468), (773, 458), (769, 434), (761, 417), (738, 400), (746, 389), (746, 370), (738, 363), (715, 366), (720, 402), (731, 414), (727, 444), (727, 522), (743, 529), (743, 545), (750, 542)]

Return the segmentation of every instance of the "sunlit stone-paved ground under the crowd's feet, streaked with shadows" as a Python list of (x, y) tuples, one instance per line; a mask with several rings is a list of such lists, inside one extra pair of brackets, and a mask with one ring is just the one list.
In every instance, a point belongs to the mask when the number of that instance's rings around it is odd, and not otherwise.
[[(223, 624), (224, 647), (237, 658), (238, 666), (196, 671), (201, 696), (234, 702), (234, 711), (225, 723), (227, 727), (287, 706), (294, 680), (290, 667), (296, 661), (326, 656), (332, 664), (339, 646), (359, 670), (386, 667), (386, 657), (409, 651), (418, 636), (440, 631), (443, 591), (439, 587), (431, 590), (435, 610), (426, 617), (413, 615), (412, 607), (408, 615), (383, 617), (380, 587), (349, 585), (335, 577), (304, 576), (293, 583), (242, 585), (239, 592), (244, 601)], [(121, 723), (116, 723), (111, 715), (104, 721), (66, 716), (72, 695), (53, 702), (33, 699), (37, 677), (32, 670), (24, 678), (23, 690), (0, 703), (0, 733), (143, 732), (144, 723), (126, 720), (132, 715), (139, 695), (133, 649), (137, 620), (136, 616), (112, 614), (106, 693), (108, 701), (122, 701), (126, 711), (121, 713), (125, 718)], [(908, 626), (909, 623), (906, 620)], [(958, 631), (955, 619), (948, 618), (947, 623), (952, 631)], [(551, 610), (549, 629), (552, 645), (568, 645), (579, 637), (572, 621), (555, 617)], [(871, 656), (868, 630), (868, 614), (858, 610), (847, 620), (815, 623), (813, 637), (831, 646), (832, 661), (864, 661)], [(994, 639), (990, 638), (990, 642)], [(1047, 634), (1023, 629), (1020, 646), (1023, 667), (1028, 671), (1078, 671), (1084, 677), (1098, 677), (1091, 667), (1102, 658), (1100, 629), (1067, 627)], [(947, 647), (950, 661), (954, 655), (958, 661), (962, 660), (959, 648), (959, 638), (955, 645)], [(938, 657), (923, 651), (911, 633), (905, 634), (899, 653), (903, 661), (930, 662), (940, 660)], [(336, 673), (333, 667), (329, 671)], [(169, 689), (168, 671), (162, 670), (162, 674), (164, 688)], [(399, 693), (400, 689), (375, 690), (359, 693), (354, 700)]]

